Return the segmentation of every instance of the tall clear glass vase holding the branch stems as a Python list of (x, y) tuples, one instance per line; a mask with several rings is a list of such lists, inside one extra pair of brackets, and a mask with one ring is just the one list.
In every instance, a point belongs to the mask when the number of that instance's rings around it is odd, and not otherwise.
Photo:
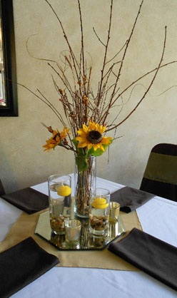
[(74, 183), (75, 183), (75, 213), (79, 217), (89, 218), (89, 202), (96, 190), (96, 157), (89, 156), (86, 159), (88, 168), (81, 170), (82, 160), (76, 157)]

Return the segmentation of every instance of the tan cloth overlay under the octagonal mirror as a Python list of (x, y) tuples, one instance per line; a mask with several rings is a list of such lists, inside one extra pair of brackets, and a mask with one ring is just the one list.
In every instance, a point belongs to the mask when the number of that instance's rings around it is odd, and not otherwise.
[[(52, 255), (56, 255), (59, 258), (60, 263), (56, 266), (59, 267), (89, 267), (89, 268), (102, 268), (102, 269), (116, 269), (116, 270), (129, 270), (139, 271), (136, 267), (122, 260), (121, 258), (113, 255), (107, 249), (99, 251), (61, 251), (56, 247), (50, 245), (45, 240), (41, 239), (37, 235), (34, 235), (36, 224), (38, 222), (39, 214), (45, 212), (37, 212), (33, 215), (28, 215), (25, 212), (21, 214), (19, 219), (11, 227), (11, 230), (6, 235), (3, 242), (0, 242), (0, 252), (7, 250), (9, 247), (16, 245), (27, 237), (31, 236), (34, 240), (44, 249)], [(136, 211), (131, 213), (122, 213), (121, 219), (127, 233), (137, 227), (142, 230), (141, 223), (138, 220)]]

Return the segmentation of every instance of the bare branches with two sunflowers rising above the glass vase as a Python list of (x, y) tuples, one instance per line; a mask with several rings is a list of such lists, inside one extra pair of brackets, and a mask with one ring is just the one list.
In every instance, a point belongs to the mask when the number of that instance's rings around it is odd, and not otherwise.
[[(64, 126), (64, 130), (59, 133), (59, 130), (53, 130), (50, 126), (47, 127), (44, 125), (53, 134), (50, 141), (46, 141), (48, 143), (44, 146), (44, 148), (46, 148), (46, 150), (50, 150), (51, 148), (55, 148), (56, 145), (62, 145), (66, 149), (73, 150), (77, 153), (79, 152), (79, 148), (83, 148), (85, 155), (88, 155), (87, 152), (91, 150), (89, 154), (93, 155), (93, 153), (98, 153), (98, 150), (104, 151), (111, 143), (111, 138), (103, 137), (102, 134), (111, 130), (114, 130), (115, 132), (116, 128), (124, 123), (136, 111), (136, 108), (138, 108), (144, 98), (146, 98), (148, 91), (153, 86), (159, 69), (168, 66), (171, 63), (176, 63), (177, 61), (171, 61), (169, 63), (162, 64), (166, 48), (165, 27), (161, 57), (159, 57), (159, 62), (156, 68), (144, 73), (139, 78), (136, 78), (135, 81), (131, 82), (128, 86), (121, 90), (121, 73), (126, 61), (126, 55), (128, 53), (132, 36), (138, 23), (138, 18), (141, 14), (141, 8), (143, 6), (144, 0), (141, 1), (128, 39), (123, 44), (122, 48), (117, 51), (112, 58), (108, 59), (111, 38), (111, 24), (113, 20), (113, 0), (110, 0), (110, 14), (106, 41), (102, 41), (96, 33), (96, 30), (93, 28), (93, 33), (96, 35), (98, 42), (103, 46), (101, 76), (98, 79), (97, 86), (94, 86), (94, 90), (97, 91), (93, 92), (91, 87), (92, 67), (89, 66), (89, 63), (86, 59), (86, 51), (84, 48), (84, 26), (82, 21), (80, 0), (76, 0), (78, 2), (79, 8), (81, 31), (81, 47), (79, 53), (74, 53), (71, 43), (69, 42), (69, 38), (66, 35), (64, 25), (62, 24), (58, 14), (56, 14), (54, 7), (51, 6), (49, 0), (44, 1), (46, 1), (46, 4), (48, 4), (51, 11), (54, 13), (54, 16), (56, 16), (68, 46), (68, 51), (64, 51), (62, 53), (63, 63), (58, 63), (48, 59), (41, 59), (47, 61), (49, 68), (51, 68), (51, 70), (54, 72), (55, 78), (52, 76), (52, 81), (54, 83), (54, 88), (58, 93), (59, 102), (64, 109), (64, 115), (59, 112), (61, 111), (61, 108), (57, 109), (51, 103), (51, 101), (49, 101), (49, 99), (46, 98), (43, 93), (41, 93), (41, 91), (37, 90), (37, 93), (34, 93), (27, 88), (31, 93), (34, 94), (34, 96), (43, 101), (47, 106), (49, 106), (49, 108), (51, 108), (52, 111), (54, 111), (56, 116), (59, 118), (59, 122)], [(123, 120), (118, 122), (118, 115), (121, 113), (123, 108), (122, 98), (124, 93), (126, 93), (128, 89), (131, 90), (131, 88), (136, 86), (136, 83), (140, 81), (141, 78), (148, 76), (150, 73), (153, 73), (153, 77), (151, 78), (148, 88), (146, 88), (146, 91), (143, 93), (143, 96), (139, 99), (138, 103), (136, 103), (136, 106), (134, 106), (131, 112), (129, 112), (128, 115), (123, 118)], [(109, 123), (108, 115), (110, 115), (111, 109), (115, 109), (115, 107), (119, 108), (118, 113), (115, 119)], [(69, 131), (71, 131), (71, 134), (69, 134)], [(70, 145), (66, 141), (66, 136), (69, 136)], [(51, 140), (53, 140), (53, 143)]]

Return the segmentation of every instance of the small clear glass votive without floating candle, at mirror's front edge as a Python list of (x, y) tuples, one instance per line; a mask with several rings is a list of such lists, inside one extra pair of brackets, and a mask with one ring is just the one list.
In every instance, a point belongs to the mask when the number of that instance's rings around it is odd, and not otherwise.
[(80, 220), (66, 220), (65, 222), (65, 239), (70, 244), (80, 242), (81, 222)]

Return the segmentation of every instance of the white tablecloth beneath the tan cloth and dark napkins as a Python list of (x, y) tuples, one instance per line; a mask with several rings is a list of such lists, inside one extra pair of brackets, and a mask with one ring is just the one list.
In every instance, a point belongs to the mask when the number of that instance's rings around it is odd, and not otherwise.
[[(97, 187), (114, 192), (123, 185), (97, 178)], [(33, 188), (48, 194), (47, 183)], [(177, 247), (177, 202), (154, 197), (136, 212), (144, 232)], [(20, 214), (21, 210), (0, 198), (0, 241)], [(177, 292), (144, 272), (54, 267), (12, 297), (171, 298)]]

